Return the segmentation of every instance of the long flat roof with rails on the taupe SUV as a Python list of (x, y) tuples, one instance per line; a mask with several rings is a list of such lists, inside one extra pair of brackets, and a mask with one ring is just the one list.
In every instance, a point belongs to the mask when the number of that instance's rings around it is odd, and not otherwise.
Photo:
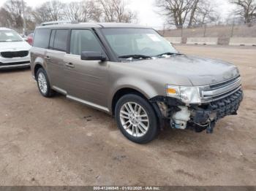
[(150, 28), (131, 23), (67, 23), (59, 25), (38, 26), (37, 28)]

